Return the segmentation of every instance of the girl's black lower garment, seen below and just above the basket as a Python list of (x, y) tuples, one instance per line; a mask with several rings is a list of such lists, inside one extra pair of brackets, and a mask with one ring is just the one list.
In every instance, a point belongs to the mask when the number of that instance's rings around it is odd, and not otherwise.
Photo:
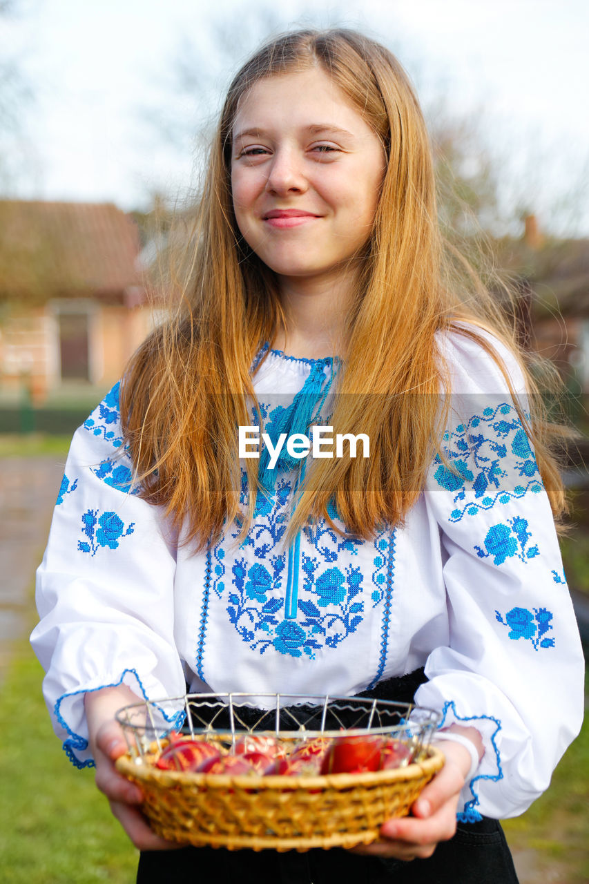
[[(358, 697), (409, 703), (423, 669), (379, 682)], [(497, 819), (459, 823), (456, 834), (440, 842), (432, 857), (403, 862), (358, 856), (349, 850), (225, 850), (186, 847), (145, 850), (139, 859), (138, 884), (167, 880), (191, 884), (517, 884), (516, 869)]]

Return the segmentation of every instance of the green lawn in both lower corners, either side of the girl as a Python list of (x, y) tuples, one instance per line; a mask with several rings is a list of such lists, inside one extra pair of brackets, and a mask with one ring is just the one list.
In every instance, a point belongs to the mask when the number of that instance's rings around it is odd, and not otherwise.
[[(42, 670), (16, 644), (0, 696), (0, 869), (6, 884), (134, 881), (137, 852), (111, 817), (91, 770), (73, 768), (50, 728)], [(547, 709), (549, 712), (549, 709)], [(536, 880), (589, 880), (589, 721), (545, 796), (505, 823), (509, 844), (532, 851)], [(558, 877), (554, 877), (558, 874)], [(534, 880), (534, 879), (530, 879)]]

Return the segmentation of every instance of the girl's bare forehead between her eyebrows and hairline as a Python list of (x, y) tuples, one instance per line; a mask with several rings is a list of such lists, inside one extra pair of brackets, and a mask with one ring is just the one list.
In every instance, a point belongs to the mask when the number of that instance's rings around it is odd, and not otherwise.
[(244, 130), (305, 127), (317, 123), (362, 134), (372, 132), (351, 99), (322, 68), (257, 80), (241, 96), (233, 137)]

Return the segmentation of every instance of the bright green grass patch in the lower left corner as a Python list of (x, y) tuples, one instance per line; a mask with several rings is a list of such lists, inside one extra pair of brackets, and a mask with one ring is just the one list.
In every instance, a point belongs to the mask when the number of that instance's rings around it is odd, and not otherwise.
[(96, 789), (65, 758), (41, 696), (42, 669), (15, 646), (0, 694), (0, 877), (6, 884), (129, 884), (138, 853)]

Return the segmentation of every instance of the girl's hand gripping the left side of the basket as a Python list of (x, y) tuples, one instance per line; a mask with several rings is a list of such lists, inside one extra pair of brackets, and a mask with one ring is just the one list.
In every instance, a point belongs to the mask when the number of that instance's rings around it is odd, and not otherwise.
[(108, 798), (112, 814), (138, 850), (174, 850), (183, 845), (164, 841), (151, 831), (138, 806), (143, 800), (141, 789), (121, 776), (114, 766), (114, 761), (127, 751), (114, 713), (121, 706), (136, 702), (137, 697), (125, 685), (88, 692), (85, 697), (89, 743), (96, 761), (96, 786)]

